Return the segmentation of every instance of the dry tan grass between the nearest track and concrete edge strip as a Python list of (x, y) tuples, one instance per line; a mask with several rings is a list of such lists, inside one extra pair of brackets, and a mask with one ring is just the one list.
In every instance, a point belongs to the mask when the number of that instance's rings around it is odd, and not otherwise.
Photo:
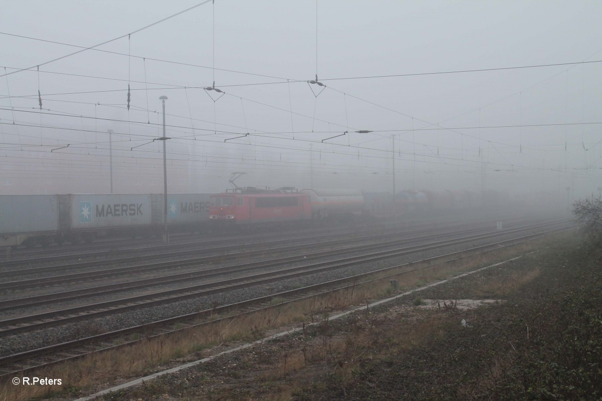
[[(48, 397), (58, 391), (73, 391), (84, 389), (86, 392), (98, 390), (100, 387), (108, 387), (110, 384), (128, 381), (131, 378), (147, 375), (157, 370), (163, 370), (166, 364), (174, 359), (182, 361), (197, 360), (206, 357), (211, 347), (228, 344), (231, 341), (250, 341), (264, 337), (265, 332), (271, 329), (290, 325), (293, 322), (315, 322), (323, 320), (330, 311), (346, 310), (353, 305), (365, 305), (372, 299), (395, 295), (426, 283), (450, 277), (459, 272), (470, 271), (478, 266), (488, 265), (507, 259), (517, 254), (523, 254), (541, 246), (542, 240), (527, 242), (509, 248), (495, 249), (489, 253), (467, 256), (463, 259), (444, 262), (444, 258), (438, 263), (427, 266), (424, 262), (413, 263), (403, 266), (397, 271), (387, 271), (375, 274), (373, 278), (382, 277), (383, 280), (372, 281), (365, 284), (356, 284), (334, 293), (323, 296), (313, 296), (300, 301), (278, 305), (273, 308), (261, 310), (256, 313), (246, 314), (233, 319), (222, 320), (196, 328), (182, 329), (169, 336), (151, 338), (122, 347), (113, 351), (89, 355), (81, 360), (70, 363), (58, 364), (43, 372), (36, 372), (39, 377), (61, 378), (61, 386), (14, 386), (12, 384), (0, 384), (0, 400), (25, 400), (31, 398)], [(422, 268), (420, 271), (409, 271), (408, 269)], [(531, 274), (535, 277), (538, 271)], [(397, 280), (397, 286), (391, 286), (390, 279)], [(528, 277), (517, 277), (512, 283), (496, 284), (497, 287), (483, 288), (483, 292), (509, 291), (515, 288), (520, 280), (529, 280)], [(216, 316), (219, 317), (219, 316)], [(215, 317), (214, 317), (215, 318)], [(322, 323), (324, 325), (324, 322)], [(436, 322), (424, 322), (415, 326), (411, 332), (405, 335), (397, 335), (394, 344), (397, 347), (411, 347), (413, 344), (423, 341), (424, 338), (432, 336), (436, 331)], [(312, 349), (309, 352), (297, 352), (287, 355), (279, 361), (278, 369), (274, 375), (278, 378), (286, 378), (297, 372), (308, 361), (316, 361), (326, 358), (328, 355), (345, 355), (342, 363), (346, 369), (350, 369), (356, 360), (356, 355), (361, 352), (371, 341), (370, 333), (359, 335), (353, 340), (349, 338), (333, 339), (324, 336), (324, 347)], [(403, 338), (400, 340), (400, 338)], [(339, 341), (340, 340), (340, 341)], [(328, 355), (327, 355), (328, 354)], [(178, 361), (176, 361), (178, 363)], [(33, 373), (29, 376), (34, 376)], [(265, 377), (264, 379), (276, 379), (276, 377)], [(288, 399), (291, 388), (282, 387), (272, 399)]]

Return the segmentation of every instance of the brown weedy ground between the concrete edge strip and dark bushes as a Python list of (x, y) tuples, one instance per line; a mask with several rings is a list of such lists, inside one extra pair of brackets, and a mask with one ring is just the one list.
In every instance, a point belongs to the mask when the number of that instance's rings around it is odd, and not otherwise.
[[(599, 262), (598, 262), (599, 263)], [(542, 266), (537, 255), (524, 257), (516, 262), (496, 268), (490, 268), (477, 274), (463, 277), (459, 280), (448, 281), (441, 286), (432, 287), (420, 296), (449, 300), (455, 298), (483, 297), (482, 290), (491, 281), (510, 280), (516, 275)], [(537, 284), (544, 277), (542, 284)], [(550, 283), (556, 283), (553, 278), (538, 276), (535, 285), (527, 289), (515, 287), (512, 291), (495, 294), (496, 298), (515, 299), (515, 302), (531, 302), (533, 299), (550, 292)], [(531, 281), (527, 281), (527, 284)], [(548, 287), (548, 289), (546, 289)], [(554, 292), (554, 286), (552, 286)], [(533, 296), (533, 291), (535, 295)], [(450, 385), (457, 382), (457, 388), (462, 391), (467, 385), (466, 379), (471, 374), (486, 375), (483, 369), (478, 370), (478, 364), (465, 364), (473, 354), (463, 355), (462, 352), (477, 349), (477, 344), (485, 344), (481, 349), (485, 363), (491, 363), (489, 343), (498, 341), (505, 344), (510, 353), (511, 347), (518, 347), (515, 339), (508, 344), (506, 332), (507, 314), (512, 313), (512, 305), (506, 305), (504, 310), (499, 307), (483, 307), (477, 310), (419, 310), (413, 305), (415, 295), (397, 299), (397, 301), (380, 307), (372, 308), (370, 316), (364, 313), (349, 316), (346, 319), (331, 320), (328, 326), (312, 327), (305, 335), (298, 332), (295, 335), (282, 337), (279, 340), (268, 341), (260, 346), (223, 355), (214, 360), (181, 370), (177, 373), (161, 376), (144, 385), (105, 396), (105, 400), (126, 401), (137, 399), (156, 400), (249, 400), (249, 399), (298, 399), (298, 400), (329, 400), (329, 399), (414, 399), (408, 394), (412, 391), (449, 391)], [(598, 297), (599, 298), (599, 297)], [(545, 300), (544, 300), (545, 305)], [(554, 308), (557, 308), (555, 306)], [(499, 312), (498, 312), (499, 310)], [(442, 312), (442, 313), (441, 313)], [(441, 335), (431, 338), (420, 338), (421, 327), (429, 323), (441, 323)], [(467, 328), (462, 328), (461, 320), (465, 319)], [(524, 322), (517, 322), (524, 328)], [(529, 322), (529, 320), (527, 320)], [(278, 329), (277, 331), (281, 331)], [(416, 334), (418, 331), (418, 334)], [(391, 341), (390, 333), (395, 333), (397, 340)], [(267, 335), (273, 333), (267, 333)], [(374, 347), (365, 349), (362, 343), (347, 343), (347, 336), (358, 338), (358, 335), (368, 335), (373, 340)], [(524, 337), (521, 331), (520, 337)], [(389, 337), (387, 337), (389, 335)], [(413, 337), (412, 337), (413, 336)], [(418, 337), (417, 337), (418, 336)], [(405, 338), (404, 338), (405, 337)], [(413, 346), (403, 347), (403, 341), (410, 337), (415, 341)], [(424, 335), (423, 335), (424, 337)], [(393, 337), (395, 338), (395, 337)], [(523, 339), (524, 340), (524, 339)], [(399, 342), (396, 342), (399, 341)], [(345, 344), (337, 349), (337, 342)], [(326, 345), (325, 345), (326, 344)], [(426, 347), (422, 347), (425, 344)], [(234, 346), (230, 344), (229, 346)], [(330, 354), (317, 358), (324, 349), (332, 346)], [(354, 348), (356, 346), (356, 348)], [(211, 350), (216, 354), (225, 350), (228, 345), (222, 345)], [(325, 348), (326, 347), (326, 348)], [(396, 347), (403, 350), (399, 355), (388, 355), (387, 350)], [(496, 348), (498, 352), (504, 350)], [(464, 350), (464, 351), (462, 351)], [(207, 355), (209, 350), (199, 352), (197, 358)], [(460, 352), (460, 354), (459, 354)], [(307, 360), (303, 357), (307, 355)], [(300, 357), (300, 363), (295, 365), (294, 357)], [(479, 357), (479, 355), (475, 355)], [(374, 359), (373, 359), (374, 357)], [(361, 361), (351, 372), (346, 370), (346, 363), (353, 360)], [(160, 368), (172, 367), (165, 366)], [(359, 369), (358, 369), (359, 368)], [(452, 369), (452, 370), (449, 370)], [(475, 369), (477, 369), (475, 371)], [(348, 376), (349, 375), (349, 376)], [(356, 375), (356, 379), (349, 381)], [(399, 380), (398, 380), (399, 379)], [(504, 381), (503, 384), (506, 384)], [(598, 387), (599, 382), (598, 382)], [(433, 390), (434, 389), (434, 390)], [(382, 391), (377, 392), (377, 391)], [(395, 393), (395, 391), (397, 393)], [(406, 394), (402, 397), (400, 394)], [(397, 394), (397, 396), (396, 396)], [(430, 393), (429, 393), (430, 394)], [(75, 397), (78, 394), (71, 394)], [(421, 393), (420, 399), (435, 399)], [(488, 399), (492, 393), (484, 394)], [(437, 398), (439, 399), (439, 398)], [(452, 396), (449, 399), (457, 399)], [(565, 398), (566, 399), (566, 398)]]

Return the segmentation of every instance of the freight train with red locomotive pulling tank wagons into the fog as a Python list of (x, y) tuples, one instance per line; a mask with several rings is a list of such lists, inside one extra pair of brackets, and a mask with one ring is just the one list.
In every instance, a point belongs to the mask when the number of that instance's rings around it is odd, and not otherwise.
[(353, 216), (390, 219), (406, 213), (496, 207), (495, 191), (362, 192), (356, 189), (281, 190), (238, 188), (211, 195), (209, 221), (214, 225), (314, 221)]

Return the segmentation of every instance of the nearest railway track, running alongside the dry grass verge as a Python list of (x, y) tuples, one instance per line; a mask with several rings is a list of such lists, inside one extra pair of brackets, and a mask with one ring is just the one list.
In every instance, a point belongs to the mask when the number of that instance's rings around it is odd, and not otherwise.
[[(477, 246), (471, 249), (465, 249), (462, 251), (457, 251), (455, 253), (447, 254), (444, 256), (436, 256), (430, 259), (421, 260), (421, 262), (435, 262), (435, 260), (440, 259), (450, 259), (457, 258), (464, 254), (470, 253), (480, 253), (486, 251), (485, 249), (496, 249), (500, 246), (509, 246), (515, 243), (524, 242), (529, 239), (533, 239), (538, 236), (542, 236), (545, 234), (553, 233), (559, 230), (566, 230), (567, 228), (554, 228), (553, 230), (545, 230), (535, 234), (529, 234), (527, 236), (515, 237), (512, 239), (503, 240), (500, 242), (488, 243), (486, 245)], [(514, 230), (517, 232), (520, 230)], [(436, 246), (433, 244), (427, 246)], [(439, 245), (440, 246), (440, 245)], [(406, 250), (407, 251), (407, 250)], [(378, 257), (377, 255), (373, 255), (374, 257)], [(349, 260), (338, 261), (337, 263), (349, 263)], [(393, 269), (399, 269), (403, 266), (411, 267), (415, 262), (408, 263), (406, 265), (396, 265), (389, 266), (387, 268), (380, 269), (379, 272), (391, 271)], [(70, 360), (73, 358), (79, 358), (84, 355), (92, 354), (94, 352), (99, 352), (101, 350), (115, 349), (119, 346), (128, 346), (136, 341), (141, 340), (131, 340), (126, 341), (126, 343), (120, 344), (116, 346), (112, 343), (113, 339), (116, 337), (123, 338), (124, 336), (134, 333), (134, 332), (145, 332), (146, 338), (153, 338), (160, 335), (165, 335), (173, 331), (182, 330), (185, 328), (190, 328), (191, 326), (199, 326), (203, 324), (207, 324), (210, 322), (203, 323), (194, 323), (196, 319), (199, 317), (210, 316), (213, 313), (225, 313), (226, 311), (231, 311), (234, 309), (243, 310), (240, 314), (250, 313), (251, 311), (256, 311), (259, 308), (269, 308), (273, 307), (269, 304), (270, 301), (276, 296), (278, 298), (285, 299), (286, 302), (290, 302), (293, 299), (304, 298), (308, 296), (314, 296), (317, 293), (324, 293), (324, 287), (332, 287), (337, 286), (343, 283), (353, 282), (356, 285), (358, 280), (362, 280), (368, 275), (373, 275), (375, 272), (367, 272), (364, 274), (355, 275), (353, 277), (341, 278), (340, 280), (329, 281), (327, 283), (318, 283), (313, 286), (303, 287), (301, 289), (289, 290), (287, 292), (281, 292), (278, 294), (272, 294), (268, 296), (264, 296), (261, 298), (249, 299), (241, 302), (237, 302), (235, 304), (223, 305), (222, 307), (211, 308), (210, 310), (203, 310), (193, 314), (187, 314), (182, 316), (172, 317), (170, 319), (164, 319), (158, 322), (146, 323), (144, 325), (132, 326), (129, 328), (120, 329), (113, 332), (108, 332), (100, 335), (95, 335), (87, 338), (82, 338), (79, 340), (69, 341), (66, 343), (55, 344), (52, 346), (42, 347), (40, 349), (29, 350), (26, 352), (20, 352), (14, 355), (8, 355), (6, 357), (0, 358), (0, 376), (10, 376), (14, 374), (19, 374), (26, 372), (31, 369), (38, 369), (40, 367), (49, 366), (51, 364), (58, 363), (64, 360)], [(397, 273), (396, 273), (397, 274)], [(337, 290), (340, 287), (330, 290)], [(246, 309), (245, 309), (246, 308)], [(225, 319), (231, 319), (232, 316), (226, 317)], [(184, 327), (182, 327), (182, 325)], [(174, 325), (178, 325), (176, 329)], [(145, 339), (146, 340), (146, 339)]]

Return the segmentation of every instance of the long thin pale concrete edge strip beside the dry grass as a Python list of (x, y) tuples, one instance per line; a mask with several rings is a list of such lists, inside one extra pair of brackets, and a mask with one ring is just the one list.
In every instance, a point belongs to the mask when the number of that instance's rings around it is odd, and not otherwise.
[[(507, 259), (507, 260), (504, 260), (503, 262), (495, 263), (494, 265), (485, 266), (484, 268), (480, 268), (480, 269), (477, 269), (477, 270), (474, 270), (474, 271), (471, 271), (471, 272), (467, 272), (467, 273), (462, 273), (462, 274), (457, 275), (457, 276), (452, 277), (452, 278), (447, 278), (445, 280), (437, 281), (436, 283), (428, 284), (428, 285), (426, 285), (424, 287), (420, 287), (420, 288), (417, 288), (417, 289), (414, 289), (414, 290), (409, 290), (408, 292), (404, 292), (402, 294), (399, 294), (399, 295), (396, 295), (396, 296), (392, 296), (391, 298), (381, 299), (380, 301), (376, 301), (376, 302), (373, 302), (373, 303), (368, 304), (368, 305), (364, 305), (364, 306), (359, 307), (359, 308), (355, 308), (355, 309), (352, 309), (352, 310), (349, 310), (349, 311), (346, 311), (346, 312), (343, 312), (343, 313), (338, 313), (338, 314), (335, 314), (333, 316), (330, 316), (328, 318), (328, 320), (340, 319), (341, 317), (347, 316), (349, 314), (356, 313), (358, 311), (363, 311), (363, 310), (366, 310), (367, 308), (376, 307), (378, 305), (394, 301), (394, 300), (396, 300), (398, 298), (402, 298), (402, 296), (408, 296), (408, 295), (411, 295), (412, 293), (429, 289), (430, 287), (439, 286), (440, 284), (447, 283), (448, 281), (456, 280), (457, 278), (462, 278), (462, 277), (465, 277), (467, 275), (471, 275), (471, 274), (483, 271), (485, 269), (494, 268), (495, 266), (500, 266), (500, 265), (503, 265), (504, 263), (512, 262), (512, 260), (517, 260), (517, 259), (520, 259), (521, 257), (522, 256), (513, 257), (512, 259)], [(320, 323), (321, 322), (308, 323), (306, 326), (318, 325)], [(256, 340), (256, 341), (253, 341), (252, 343), (243, 344), (241, 346), (238, 346), (238, 347), (235, 347), (235, 348), (232, 348), (232, 349), (229, 349), (229, 350), (225, 350), (225, 351), (220, 352), (219, 354), (213, 355), (211, 357), (207, 357), (207, 358), (203, 358), (201, 360), (189, 362), (189, 363), (183, 364), (181, 366), (173, 367), (172, 369), (167, 369), (167, 370), (163, 370), (161, 372), (153, 373), (152, 375), (144, 376), (143, 378), (136, 379), (134, 381), (127, 382), (127, 383), (124, 383), (124, 384), (120, 384), (120, 385), (118, 385), (116, 387), (107, 388), (106, 390), (99, 391), (98, 393), (92, 394), (90, 396), (85, 396), (85, 397), (78, 398), (75, 401), (90, 401), (90, 400), (95, 399), (96, 397), (104, 396), (105, 394), (111, 393), (113, 391), (123, 390), (124, 388), (132, 387), (134, 385), (141, 384), (143, 382), (146, 382), (146, 381), (158, 378), (159, 376), (167, 375), (168, 373), (178, 372), (179, 370), (187, 369), (188, 367), (191, 367), (191, 366), (196, 366), (196, 365), (199, 365), (199, 364), (202, 364), (202, 363), (206, 363), (206, 362), (209, 362), (209, 361), (213, 360), (214, 358), (221, 357), (222, 355), (231, 354), (232, 352), (237, 352), (237, 351), (240, 351), (240, 350), (243, 350), (243, 349), (247, 349), (249, 347), (255, 346), (256, 344), (261, 344), (264, 341), (273, 340), (275, 338), (279, 338), (279, 337), (282, 337), (284, 335), (293, 334), (293, 333), (295, 333), (297, 331), (301, 331), (301, 330), (303, 330), (302, 327), (295, 328), (295, 329), (290, 329), (290, 330), (287, 330), (287, 331), (282, 331), (282, 332), (279, 332), (277, 334), (273, 334), (273, 335), (270, 335), (268, 337), (264, 337), (261, 340)]]

